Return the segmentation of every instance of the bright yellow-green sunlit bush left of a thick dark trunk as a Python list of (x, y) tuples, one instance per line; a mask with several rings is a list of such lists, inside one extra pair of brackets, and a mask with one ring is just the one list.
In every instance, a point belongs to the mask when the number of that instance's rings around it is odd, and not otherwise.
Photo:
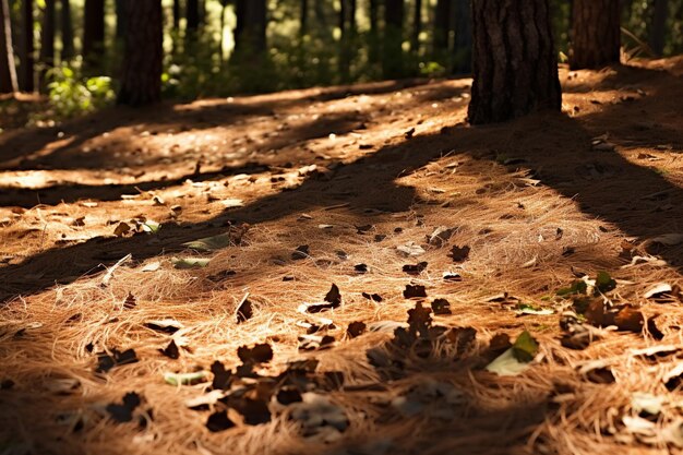
[(56, 117), (87, 113), (113, 101), (111, 77), (79, 77), (70, 67), (58, 67), (47, 74), (48, 95)]

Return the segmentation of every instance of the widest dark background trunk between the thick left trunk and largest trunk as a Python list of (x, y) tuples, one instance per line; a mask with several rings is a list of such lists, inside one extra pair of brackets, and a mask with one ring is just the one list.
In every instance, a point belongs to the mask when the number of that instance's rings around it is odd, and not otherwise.
[(266, 51), (266, 0), (237, 0), (235, 57), (240, 61), (259, 61)]

